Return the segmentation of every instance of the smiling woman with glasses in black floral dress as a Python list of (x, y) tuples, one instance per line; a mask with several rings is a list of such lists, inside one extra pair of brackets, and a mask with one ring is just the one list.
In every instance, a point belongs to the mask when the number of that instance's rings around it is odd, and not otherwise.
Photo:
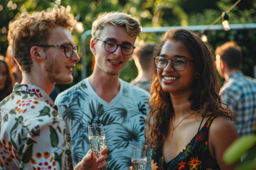
[(238, 138), (223, 108), (209, 48), (195, 33), (168, 30), (156, 49), (146, 142), (152, 169), (234, 169), (223, 152)]

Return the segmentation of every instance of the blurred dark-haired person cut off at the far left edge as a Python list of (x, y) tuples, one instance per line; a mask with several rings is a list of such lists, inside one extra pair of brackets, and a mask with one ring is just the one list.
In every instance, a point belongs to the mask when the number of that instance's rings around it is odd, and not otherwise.
[(0, 101), (11, 94), (14, 76), (11, 74), (4, 56), (0, 55)]

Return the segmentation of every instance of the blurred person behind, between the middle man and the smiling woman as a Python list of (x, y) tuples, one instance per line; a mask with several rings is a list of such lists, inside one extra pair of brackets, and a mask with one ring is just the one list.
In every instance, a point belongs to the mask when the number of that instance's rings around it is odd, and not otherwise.
[(131, 84), (149, 91), (152, 74), (156, 67), (153, 62), (153, 52), (156, 45), (154, 42), (146, 42), (140, 47), (136, 47), (132, 58), (138, 69), (138, 75), (131, 81)]

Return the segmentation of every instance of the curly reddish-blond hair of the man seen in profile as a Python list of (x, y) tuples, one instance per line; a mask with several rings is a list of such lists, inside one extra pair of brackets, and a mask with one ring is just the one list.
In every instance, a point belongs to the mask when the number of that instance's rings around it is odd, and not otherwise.
[(63, 26), (71, 32), (75, 25), (74, 16), (63, 6), (48, 8), (46, 11), (31, 15), (24, 12), (21, 18), (9, 23), (8, 41), (23, 72), (31, 71), (33, 62), (30, 49), (33, 45), (45, 44), (49, 39), (50, 31), (55, 27)]

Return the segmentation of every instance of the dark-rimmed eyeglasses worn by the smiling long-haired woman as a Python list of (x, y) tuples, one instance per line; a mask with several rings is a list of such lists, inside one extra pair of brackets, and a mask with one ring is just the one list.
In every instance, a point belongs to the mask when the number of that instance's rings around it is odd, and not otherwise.
[(182, 71), (186, 67), (186, 62), (193, 62), (193, 60), (187, 60), (185, 58), (166, 58), (166, 57), (154, 57), (154, 64), (158, 69), (164, 69), (167, 64), (168, 60), (171, 60), (172, 67), (176, 71)]

